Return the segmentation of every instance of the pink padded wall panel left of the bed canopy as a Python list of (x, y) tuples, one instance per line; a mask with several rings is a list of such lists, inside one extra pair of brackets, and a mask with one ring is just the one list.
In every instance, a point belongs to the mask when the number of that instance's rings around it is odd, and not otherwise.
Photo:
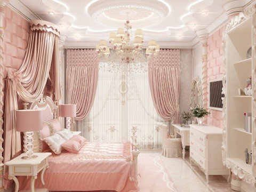
[(12, 11), (9, 7), (5, 7), (3, 26), (3, 65), (5, 67), (19, 69), (27, 49), (29, 23), (21, 15)]

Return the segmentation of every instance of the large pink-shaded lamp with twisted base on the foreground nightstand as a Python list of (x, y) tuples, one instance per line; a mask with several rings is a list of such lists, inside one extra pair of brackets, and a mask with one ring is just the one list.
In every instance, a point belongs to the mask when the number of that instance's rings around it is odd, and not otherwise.
[(31, 159), (38, 157), (33, 155), (33, 135), (34, 131), (43, 129), (43, 110), (17, 110), (16, 111), (16, 131), (26, 132), (27, 135), (27, 156), (23, 159)]

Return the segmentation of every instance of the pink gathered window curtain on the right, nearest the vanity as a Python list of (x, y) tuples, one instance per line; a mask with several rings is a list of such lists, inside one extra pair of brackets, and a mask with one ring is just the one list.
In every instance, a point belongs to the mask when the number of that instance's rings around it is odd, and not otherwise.
[(149, 85), (154, 106), (165, 121), (179, 123), (180, 50), (160, 50), (149, 63)]

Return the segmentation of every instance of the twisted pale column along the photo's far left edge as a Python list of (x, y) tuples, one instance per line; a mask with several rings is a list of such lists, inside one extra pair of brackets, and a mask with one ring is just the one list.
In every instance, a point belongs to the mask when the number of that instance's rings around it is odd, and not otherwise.
[(3, 116), (4, 116), (4, 112), (3, 112), (3, 106), (4, 106), (4, 102), (3, 102), (3, 98), (4, 98), (4, 92), (3, 92), (3, 87), (4, 87), (4, 83), (3, 83), (3, 79), (4, 79), (4, 75), (3, 75), (3, 38), (4, 38), (4, 28), (3, 28), (3, 21), (4, 21), (4, 6), (6, 6), (7, 4), (9, 4), (9, 0), (0, 0), (0, 192), (4, 192), (4, 187), (3, 187), (3, 172), (4, 172), (4, 164), (3, 164), (3, 125), (4, 125), (4, 121), (3, 121)]

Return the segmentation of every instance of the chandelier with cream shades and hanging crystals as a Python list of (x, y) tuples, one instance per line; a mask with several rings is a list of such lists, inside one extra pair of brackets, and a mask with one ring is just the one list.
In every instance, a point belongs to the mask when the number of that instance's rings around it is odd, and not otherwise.
[(110, 33), (109, 44), (106, 40), (100, 40), (96, 46), (100, 67), (107, 66), (111, 72), (129, 71), (145, 72), (148, 62), (153, 60), (160, 51), (159, 45), (155, 40), (150, 40), (148, 47), (143, 47), (143, 31), (136, 29), (131, 43), (132, 26), (130, 21), (124, 23), (124, 28), (118, 28), (116, 33)]

